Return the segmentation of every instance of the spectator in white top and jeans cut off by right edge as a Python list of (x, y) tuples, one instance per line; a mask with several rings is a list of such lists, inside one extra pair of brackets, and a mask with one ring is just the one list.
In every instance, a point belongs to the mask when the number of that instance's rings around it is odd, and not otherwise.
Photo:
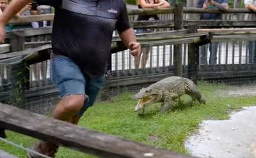
[[(256, 13), (256, 0), (244, 0), (245, 8), (252, 10)], [(256, 20), (255, 15), (253, 15), (253, 20)], [(256, 41), (248, 41), (248, 56), (249, 63), (256, 63)]]

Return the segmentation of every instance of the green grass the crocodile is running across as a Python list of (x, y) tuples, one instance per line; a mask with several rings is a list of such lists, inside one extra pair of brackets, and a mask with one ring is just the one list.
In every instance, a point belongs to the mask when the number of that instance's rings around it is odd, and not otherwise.
[[(177, 106), (168, 113), (159, 113), (159, 104), (146, 108), (145, 115), (134, 112), (136, 100), (132, 94), (125, 93), (100, 102), (86, 111), (79, 126), (103, 133), (113, 134), (155, 147), (189, 154), (184, 148), (184, 140), (195, 133), (202, 120), (228, 119), (230, 111), (256, 103), (255, 96), (220, 97), (220, 90), (232, 89), (231, 86), (200, 82), (198, 90), (203, 94), (206, 104), (188, 104), (190, 97), (183, 96)], [(33, 138), (8, 131), (8, 140), (24, 147), (35, 141)], [(17, 157), (26, 157), (23, 150), (0, 141), (0, 148)], [(81, 152), (61, 147), (57, 157), (86, 157)]]

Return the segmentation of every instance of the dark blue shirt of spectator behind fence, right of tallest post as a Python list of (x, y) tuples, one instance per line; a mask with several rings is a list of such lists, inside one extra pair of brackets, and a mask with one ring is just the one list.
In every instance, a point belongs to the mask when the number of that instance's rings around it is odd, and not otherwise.
[[(228, 4), (228, 0), (214, 0), (216, 3), (227, 3)], [(196, 8), (203, 8), (205, 0), (199, 0), (196, 4)], [(212, 8), (215, 8), (214, 6), (212, 6)], [(202, 20), (207, 20), (207, 19), (221, 19), (221, 14), (220, 13), (203, 13), (200, 16), (200, 19)]]

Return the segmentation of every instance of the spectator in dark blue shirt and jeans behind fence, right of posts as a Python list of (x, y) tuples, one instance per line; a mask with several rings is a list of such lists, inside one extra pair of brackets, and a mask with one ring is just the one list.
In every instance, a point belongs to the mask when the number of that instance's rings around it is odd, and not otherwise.
[[(196, 4), (196, 8), (203, 8), (203, 9), (211, 9), (217, 8), (219, 10), (228, 10), (228, 0), (199, 0)], [(200, 20), (220, 20), (221, 14), (220, 13), (203, 13), (200, 16)], [(217, 52), (218, 52), (219, 43), (210, 43), (209, 44), (209, 52), (210, 52), (210, 59), (209, 64), (217, 64)], [(200, 50), (200, 64), (205, 65), (207, 63), (207, 49), (208, 45), (204, 45), (201, 47)]]

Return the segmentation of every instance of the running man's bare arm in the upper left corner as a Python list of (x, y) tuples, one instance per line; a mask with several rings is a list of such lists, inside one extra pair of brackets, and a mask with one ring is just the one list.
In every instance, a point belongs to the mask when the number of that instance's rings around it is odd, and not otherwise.
[(0, 17), (0, 43), (4, 42), (5, 38), (5, 25), (8, 21), (19, 11), (26, 6), (26, 4), (31, 3), (32, 0), (12, 0), (10, 4), (6, 7), (3, 14)]

